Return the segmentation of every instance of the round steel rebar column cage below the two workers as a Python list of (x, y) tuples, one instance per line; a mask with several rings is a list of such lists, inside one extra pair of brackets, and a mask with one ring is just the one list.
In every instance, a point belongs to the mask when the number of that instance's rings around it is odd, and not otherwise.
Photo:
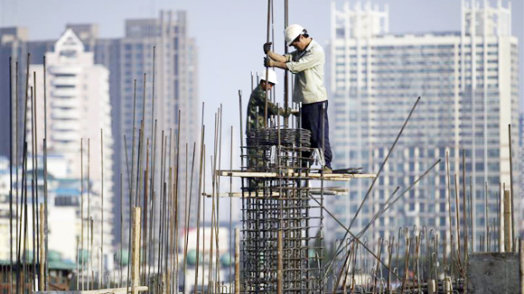
[[(284, 293), (323, 292), (323, 196), (313, 196), (303, 176), (312, 161), (310, 138), (304, 129), (248, 133), (245, 168), (277, 171), (281, 176), (242, 180), (244, 293), (276, 293), (278, 284)], [(283, 236), (280, 257), (279, 231)]]

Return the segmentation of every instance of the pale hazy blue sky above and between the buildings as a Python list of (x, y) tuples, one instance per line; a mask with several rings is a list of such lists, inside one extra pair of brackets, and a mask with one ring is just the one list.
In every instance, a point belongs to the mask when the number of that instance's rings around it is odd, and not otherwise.
[[(336, 1), (339, 6), (343, 2)], [(284, 1), (274, 3), (276, 51), (283, 51)], [(351, 5), (355, 3), (351, 1)], [(459, 0), (374, 0), (371, 3), (380, 9), (389, 5), (389, 28), (393, 33), (460, 30)], [(508, 5), (506, 0), (502, 3)], [(235, 124), (237, 127), (238, 90), (242, 89), (247, 98), (249, 72), (262, 69), (267, 0), (0, 0), (0, 4), (0, 24), (27, 27), (31, 40), (57, 39), (66, 23), (98, 23), (102, 37), (120, 37), (124, 35), (126, 19), (156, 17), (161, 9), (186, 10), (189, 33), (199, 48), (199, 96), (206, 102), (207, 113), (223, 103), (228, 117), (225, 126)], [(330, 34), (330, 9), (328, 0), (289, 0), (289, 22), (301, 23), (324, 45)], [(521, 42), (524, 40), (523, 1), (512, 1), (512, 11), (513, 34)], [(524, 76), (522, 67), (520, 72)], [(280, 75), (281, 70), (278, 73)], [(277, 92), (277, 99), (282, 99), (281, 93), (282, 88)], [(210, 116), (208, 124), (213, 121), (213, 115)]]

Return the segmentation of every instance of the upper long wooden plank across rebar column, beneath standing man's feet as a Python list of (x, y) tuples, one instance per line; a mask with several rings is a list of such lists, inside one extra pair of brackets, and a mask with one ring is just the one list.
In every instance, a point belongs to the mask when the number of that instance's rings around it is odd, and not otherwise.
[(259, 171), (242, 171), (242, 170), (217, 170), (217, 176), (220, 177), (239, 177), (239, 178), (296, 178), (296, 179), (323, 179), (323, 180), (338, 180), (349, 181), (351, 179), (374, 179), (377, 175), (374, 173), (305, 173), (293, 172), (293, 170), (286, 170), (282, 173), (278, 172), (259, 172)]

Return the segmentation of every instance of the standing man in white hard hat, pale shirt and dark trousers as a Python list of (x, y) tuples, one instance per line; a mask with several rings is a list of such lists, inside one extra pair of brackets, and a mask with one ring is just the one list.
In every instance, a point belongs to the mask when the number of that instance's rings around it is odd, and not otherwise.
[[(296, 51), (280, 55), (271, 51), (271, 43), (264, 44), (265, 67), (289, 70), (295, 74), (293, 101), (302, 103), (301, 123), (304, 129), (311, 131), (313, 148), (323, 150), (324, 173), (332, 172), (332, 150), (329, 140), (328, 101), (323, 85), (323, 48), (311, 38), (299, 24), (285, 28), (285, 42), (295, 47)], [(304, 154), (310, 157), (312, 154)]]

